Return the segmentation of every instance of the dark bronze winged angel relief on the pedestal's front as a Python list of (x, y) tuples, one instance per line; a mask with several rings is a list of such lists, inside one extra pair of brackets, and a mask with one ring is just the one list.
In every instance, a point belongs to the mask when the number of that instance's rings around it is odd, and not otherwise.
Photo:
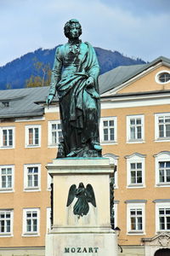
[(87, 215), (89, 211), (88, 203), (91, 203), (94, 207), (96, 207), (94, 189), (91, 184), (88, 184), (86, 188), (83, 183), (79, 183), (79, 186), (75, 184), (71, 185), (69, 189), (68, 199), (66, 203), (66, 207), (69, 207), (72, 201), (77, 197), (77, 202), (73, 207), (73, 213), (78, 215), (80, 218), (83, 215)]

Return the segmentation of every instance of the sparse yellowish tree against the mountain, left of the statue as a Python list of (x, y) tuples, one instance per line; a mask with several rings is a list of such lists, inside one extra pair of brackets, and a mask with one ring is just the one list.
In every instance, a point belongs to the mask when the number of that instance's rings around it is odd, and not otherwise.
[(35, 70), (37, 75), (31, 75), (30, 79), (26, 79), (26, 87), (42, 87), (48, 86), (51, 79), (51, 68), (48, 64), (44, 64), (41, 61), (37, 61), (37, 58), (33, 59)]

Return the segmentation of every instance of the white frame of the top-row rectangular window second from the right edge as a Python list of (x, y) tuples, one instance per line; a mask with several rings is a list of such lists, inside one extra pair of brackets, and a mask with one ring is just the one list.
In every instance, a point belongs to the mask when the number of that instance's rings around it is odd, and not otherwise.
[[(130, 131), (130, 120), (131, 119), (141, 119), (141, 138), (131, 138), (131, 131)], [(135, 127), (137, 125), (134, 125)], [(135, 134), (137, 130), (135, 128)], [(144, 143), (144, 115), (127, 115), (127, 143)]]

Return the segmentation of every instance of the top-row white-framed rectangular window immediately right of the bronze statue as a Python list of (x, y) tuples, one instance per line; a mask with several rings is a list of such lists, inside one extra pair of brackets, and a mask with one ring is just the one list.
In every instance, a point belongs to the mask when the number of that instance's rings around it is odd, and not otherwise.
[(116, 143), (116, 117), (100, 120), (101, 143)]

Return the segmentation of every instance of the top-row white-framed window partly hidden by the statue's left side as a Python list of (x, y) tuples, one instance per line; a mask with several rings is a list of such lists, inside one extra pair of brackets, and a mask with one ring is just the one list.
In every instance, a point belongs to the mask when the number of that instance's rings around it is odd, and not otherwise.
[(62, 140), (63, 135), (61, 131), (60, 121), (48, 122), (48, 145), (56, 146)]

